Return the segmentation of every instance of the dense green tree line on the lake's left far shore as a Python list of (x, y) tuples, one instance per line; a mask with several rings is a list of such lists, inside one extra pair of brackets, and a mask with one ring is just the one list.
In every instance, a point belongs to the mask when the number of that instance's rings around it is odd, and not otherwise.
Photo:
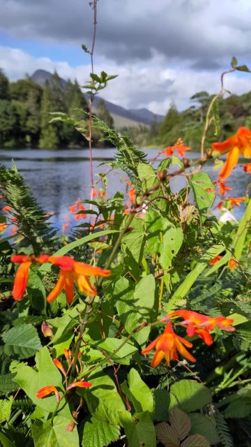
[[(85, 147), (89, 143), (73, 126), (62, 122), (49, 124), (50, 112), (65, 112), (82, 122), (88, 133), (88, 117), (78, 109), (88, 112), (89, 106), (77, 80), (68, 80), (63, 87), (55, 71), (41, 87), (28, 76), (9, 82), (0, 68), (0, 147)], [(113, 126), (104, 101), (98, 102), (95, 113)], [(102, 136), (102, 131), (93, 129), (93, 144), (97, 145)]]

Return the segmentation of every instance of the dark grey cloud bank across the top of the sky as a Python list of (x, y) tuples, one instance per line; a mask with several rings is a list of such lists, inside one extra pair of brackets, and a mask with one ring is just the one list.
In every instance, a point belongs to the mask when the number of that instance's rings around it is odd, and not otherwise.
[[(87, 0), (0, 0), (0, 28), (17, 38), (91, 45)], [(250, 0), (100, 0), (96, 54), (123, 64), (151, 61), (197, 69), (251, 59)]]

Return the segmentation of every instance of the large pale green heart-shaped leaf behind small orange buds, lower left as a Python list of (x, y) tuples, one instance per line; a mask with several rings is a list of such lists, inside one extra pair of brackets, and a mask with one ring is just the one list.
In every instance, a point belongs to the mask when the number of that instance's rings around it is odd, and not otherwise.
[[(52, 358), (46, 346), (36, 354), (36, 369), (24, 366), (20, 368), (15, 376), (15, 382), (25, 391), (26, 395), (45, 411), (50, 413), (56, 408), (56, 397), (49, 395), (43, 399), (38, 399), (36, 393), (44, 386), (55, 386), (58, 391), (63, 392), (62, 376), (59, 369), (52, 362)], [(61, 393), (60, 393), (61, 394)], [(63, 407), (63, 408), (62, 408)], [(71, 418), (70, 410), (63, 400), (59, 405), (60, 414), (66, 418)]]

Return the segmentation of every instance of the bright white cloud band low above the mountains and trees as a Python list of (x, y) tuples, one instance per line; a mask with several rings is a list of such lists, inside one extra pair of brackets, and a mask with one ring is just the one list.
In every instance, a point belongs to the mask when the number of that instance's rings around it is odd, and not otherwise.
[[(171, 101), (175, 101), (178, 110), (189, 105), (189, 98), (197, 91), (209, 94), (220, 91), (220, 71), (197, 71), (192, 68), (167, 68), (165, 57), (153, 54), (151, 64), (145, 61), (116, 64), (104, 59), (95, 65), (96, 73), (104, 70), (109, 74), (118, 74), (104, 89), (101, 96), (125, 108), (149, 108), (155, 113), (165, 114)], [(88, 65), (70, 66), (67, 61), (52, 61), (49, 58), (36, 58), (30, 54), (0, 46), (1, 68), (10, 80), (31, 75), (38, 68), (50, 71), (56, 69), (61, 78), (77, 78), (80, 85), (89, 78)], [(236, 73), (225, 77), (225, 88), (231, 93), (242, 94), (251, 90), (251, 75), (238, 78)]]

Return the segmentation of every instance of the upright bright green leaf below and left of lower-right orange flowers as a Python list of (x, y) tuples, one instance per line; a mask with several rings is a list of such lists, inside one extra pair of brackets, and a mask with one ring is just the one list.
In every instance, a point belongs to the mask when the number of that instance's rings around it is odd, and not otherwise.
[(142, 411), (149, 411), (153, 416), (153, 395), (150, 388), (142, 381), (136, 369), (132, 368), (128, 374), (128, 385), (130, 390), (130, 397), (135, 411), (142, 413)]

